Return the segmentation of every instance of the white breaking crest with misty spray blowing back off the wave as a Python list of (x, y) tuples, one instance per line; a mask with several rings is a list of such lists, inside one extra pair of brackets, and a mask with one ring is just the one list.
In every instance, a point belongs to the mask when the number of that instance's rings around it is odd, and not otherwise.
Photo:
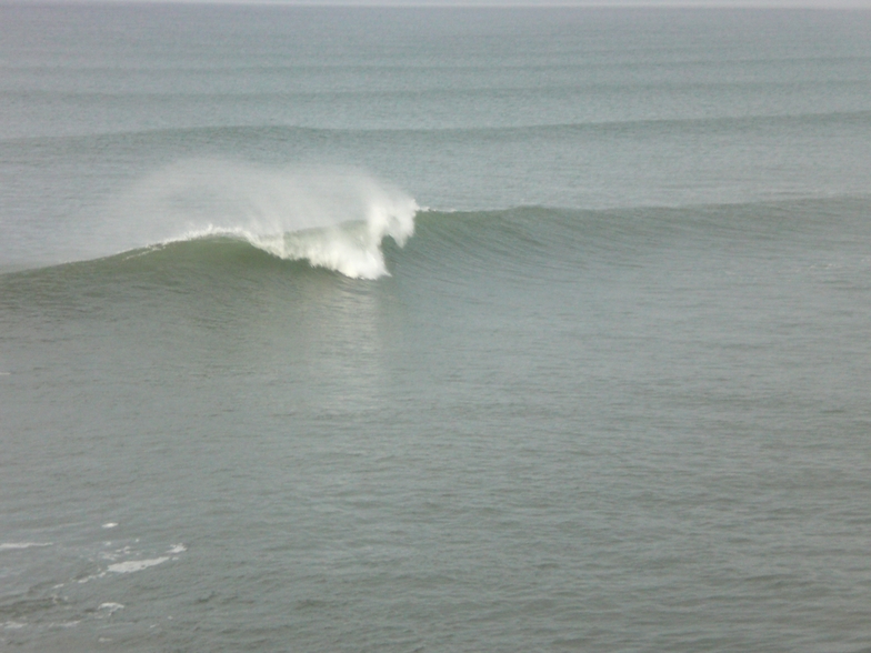
[(417, 202), (352, 170), (188, 160), (147, 175), (107, 211), (104, 249), (210, 237), (354, 279), (387, 274), (381, 243), (414, 233)]

